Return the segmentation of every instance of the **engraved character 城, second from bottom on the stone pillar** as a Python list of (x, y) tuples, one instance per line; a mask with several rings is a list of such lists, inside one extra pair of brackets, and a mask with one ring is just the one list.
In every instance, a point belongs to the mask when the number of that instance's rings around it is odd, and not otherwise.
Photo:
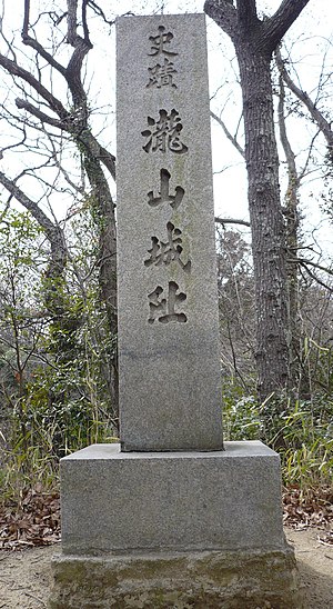
[(151, 249), (148, 250), (150, 257), (144, 260), (145, 267), (160, 267), (161, 264), (170, 264), (173, 261), (176, 261), (184, 272), (191, 272), (191, 260), (188, 260), (186, 263), (181, 259), (183, 251), (182, 247), (182, 231), (174, 227), (172, 222), (167, 224), (168, 240), (162, 241), (158, 237), (151, 238)]

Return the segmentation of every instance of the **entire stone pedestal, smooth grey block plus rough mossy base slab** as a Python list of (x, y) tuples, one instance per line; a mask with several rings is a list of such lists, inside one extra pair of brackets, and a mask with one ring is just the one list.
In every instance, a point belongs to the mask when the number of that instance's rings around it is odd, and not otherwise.
[(261, 442), (94, 445), (61, 460), (61, 497), (52, 609), (302, 607), (279, 456)]

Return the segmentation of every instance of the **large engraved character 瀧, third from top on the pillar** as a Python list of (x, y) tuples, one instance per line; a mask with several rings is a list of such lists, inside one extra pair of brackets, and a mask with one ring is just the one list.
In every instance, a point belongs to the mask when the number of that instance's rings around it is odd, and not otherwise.
[(179, 112), (173, 108), (168, 114), (167, 110), (159, 110), (160, 118), (154, 120), (152, 117), (148, 117), (148, 124), (151, 129), (141, 131), (141, 134), (148, 138), (148, 141), (142, 146), (145, 152), (175, 152), (176, 154), (184, 154), (188, 152), (188, 147), (181, 142), (180, 132), (183, 128)]

